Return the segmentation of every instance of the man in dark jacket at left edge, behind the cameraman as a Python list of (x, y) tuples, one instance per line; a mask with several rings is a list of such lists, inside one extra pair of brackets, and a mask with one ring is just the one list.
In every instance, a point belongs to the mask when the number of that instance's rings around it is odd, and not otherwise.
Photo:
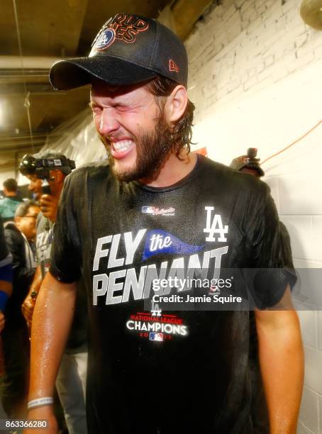
[(12, 256), (13, 292), (6, 304), (6, 325), (2, 332), (5, 374), (1, 377), (1, 400), (9, 418), (26, 417), (29, 371), (29, 335), (21, 304), (35, 274), (35, 221), (40, 208), (33, 201), (18, 206), (14, 223), (4, 228)]

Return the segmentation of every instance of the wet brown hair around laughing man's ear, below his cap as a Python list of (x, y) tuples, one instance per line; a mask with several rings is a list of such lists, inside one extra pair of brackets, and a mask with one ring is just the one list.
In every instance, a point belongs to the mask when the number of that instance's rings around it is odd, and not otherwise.
[[(155, 77), (155, 79), (152, 79), (152, 81), (147, 84), (148, 90), (157, 99), (160, 111), (162, 111), (165, 106), (165, 97), (169, 96), (176, 86), (178, 86), (176, 82), (160, 76)], [(190, 152), (190, 145), (193, 144), (191, 142), (193, 120), (194, 104), (188, 99), (188, 104), (182, 117), (177, 121), (177, 124), (171, 131), (172, 150), (177, 157), (179, 157), (179, 153), (184, 147), (186, 147), (187, 151)]]

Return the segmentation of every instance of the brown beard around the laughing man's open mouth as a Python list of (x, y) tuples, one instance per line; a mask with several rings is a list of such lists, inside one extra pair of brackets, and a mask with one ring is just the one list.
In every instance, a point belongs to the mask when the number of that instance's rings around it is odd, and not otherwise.
[(174, 144), (170, 128), (165, 122), (163, 113), (161, 113), (157, 118), (154, 131), (133, 137), (136, 145), (135, 166), (121, 172), (116, 169), (115, 160), (111, 155), (110, 140), (102, 135), (100, 135), (100, 138), (108, 152), (109, 165), (113, 174), (119, 181), (123, 182), (143, 178), (155, 179)]

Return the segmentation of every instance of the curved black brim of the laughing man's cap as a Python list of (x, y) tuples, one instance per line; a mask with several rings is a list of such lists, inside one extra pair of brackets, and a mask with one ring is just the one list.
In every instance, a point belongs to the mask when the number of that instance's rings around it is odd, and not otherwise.
[(114, 86), (136, 84), (156, 77), (156, 72), (118, 57), (95, 56), (60, 60), (52, 65), (50, 83), (55, 90), (69, 90), (101, 79)]

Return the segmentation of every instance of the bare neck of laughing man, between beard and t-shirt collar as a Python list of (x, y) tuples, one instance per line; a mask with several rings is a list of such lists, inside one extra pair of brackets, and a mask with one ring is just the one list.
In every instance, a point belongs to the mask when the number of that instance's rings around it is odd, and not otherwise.
[(187, 153), (182, 150), (178, 158), (172, 152), (167, 156), (165, 162), (162, 164), (157, 177), (154, 179), (143, 178), (140, 179), (145, 185), (150, 187), (169, 187), (181, 181), (184, 177), (194, 169), (196, 165), (196, 155), (192, 152)]

